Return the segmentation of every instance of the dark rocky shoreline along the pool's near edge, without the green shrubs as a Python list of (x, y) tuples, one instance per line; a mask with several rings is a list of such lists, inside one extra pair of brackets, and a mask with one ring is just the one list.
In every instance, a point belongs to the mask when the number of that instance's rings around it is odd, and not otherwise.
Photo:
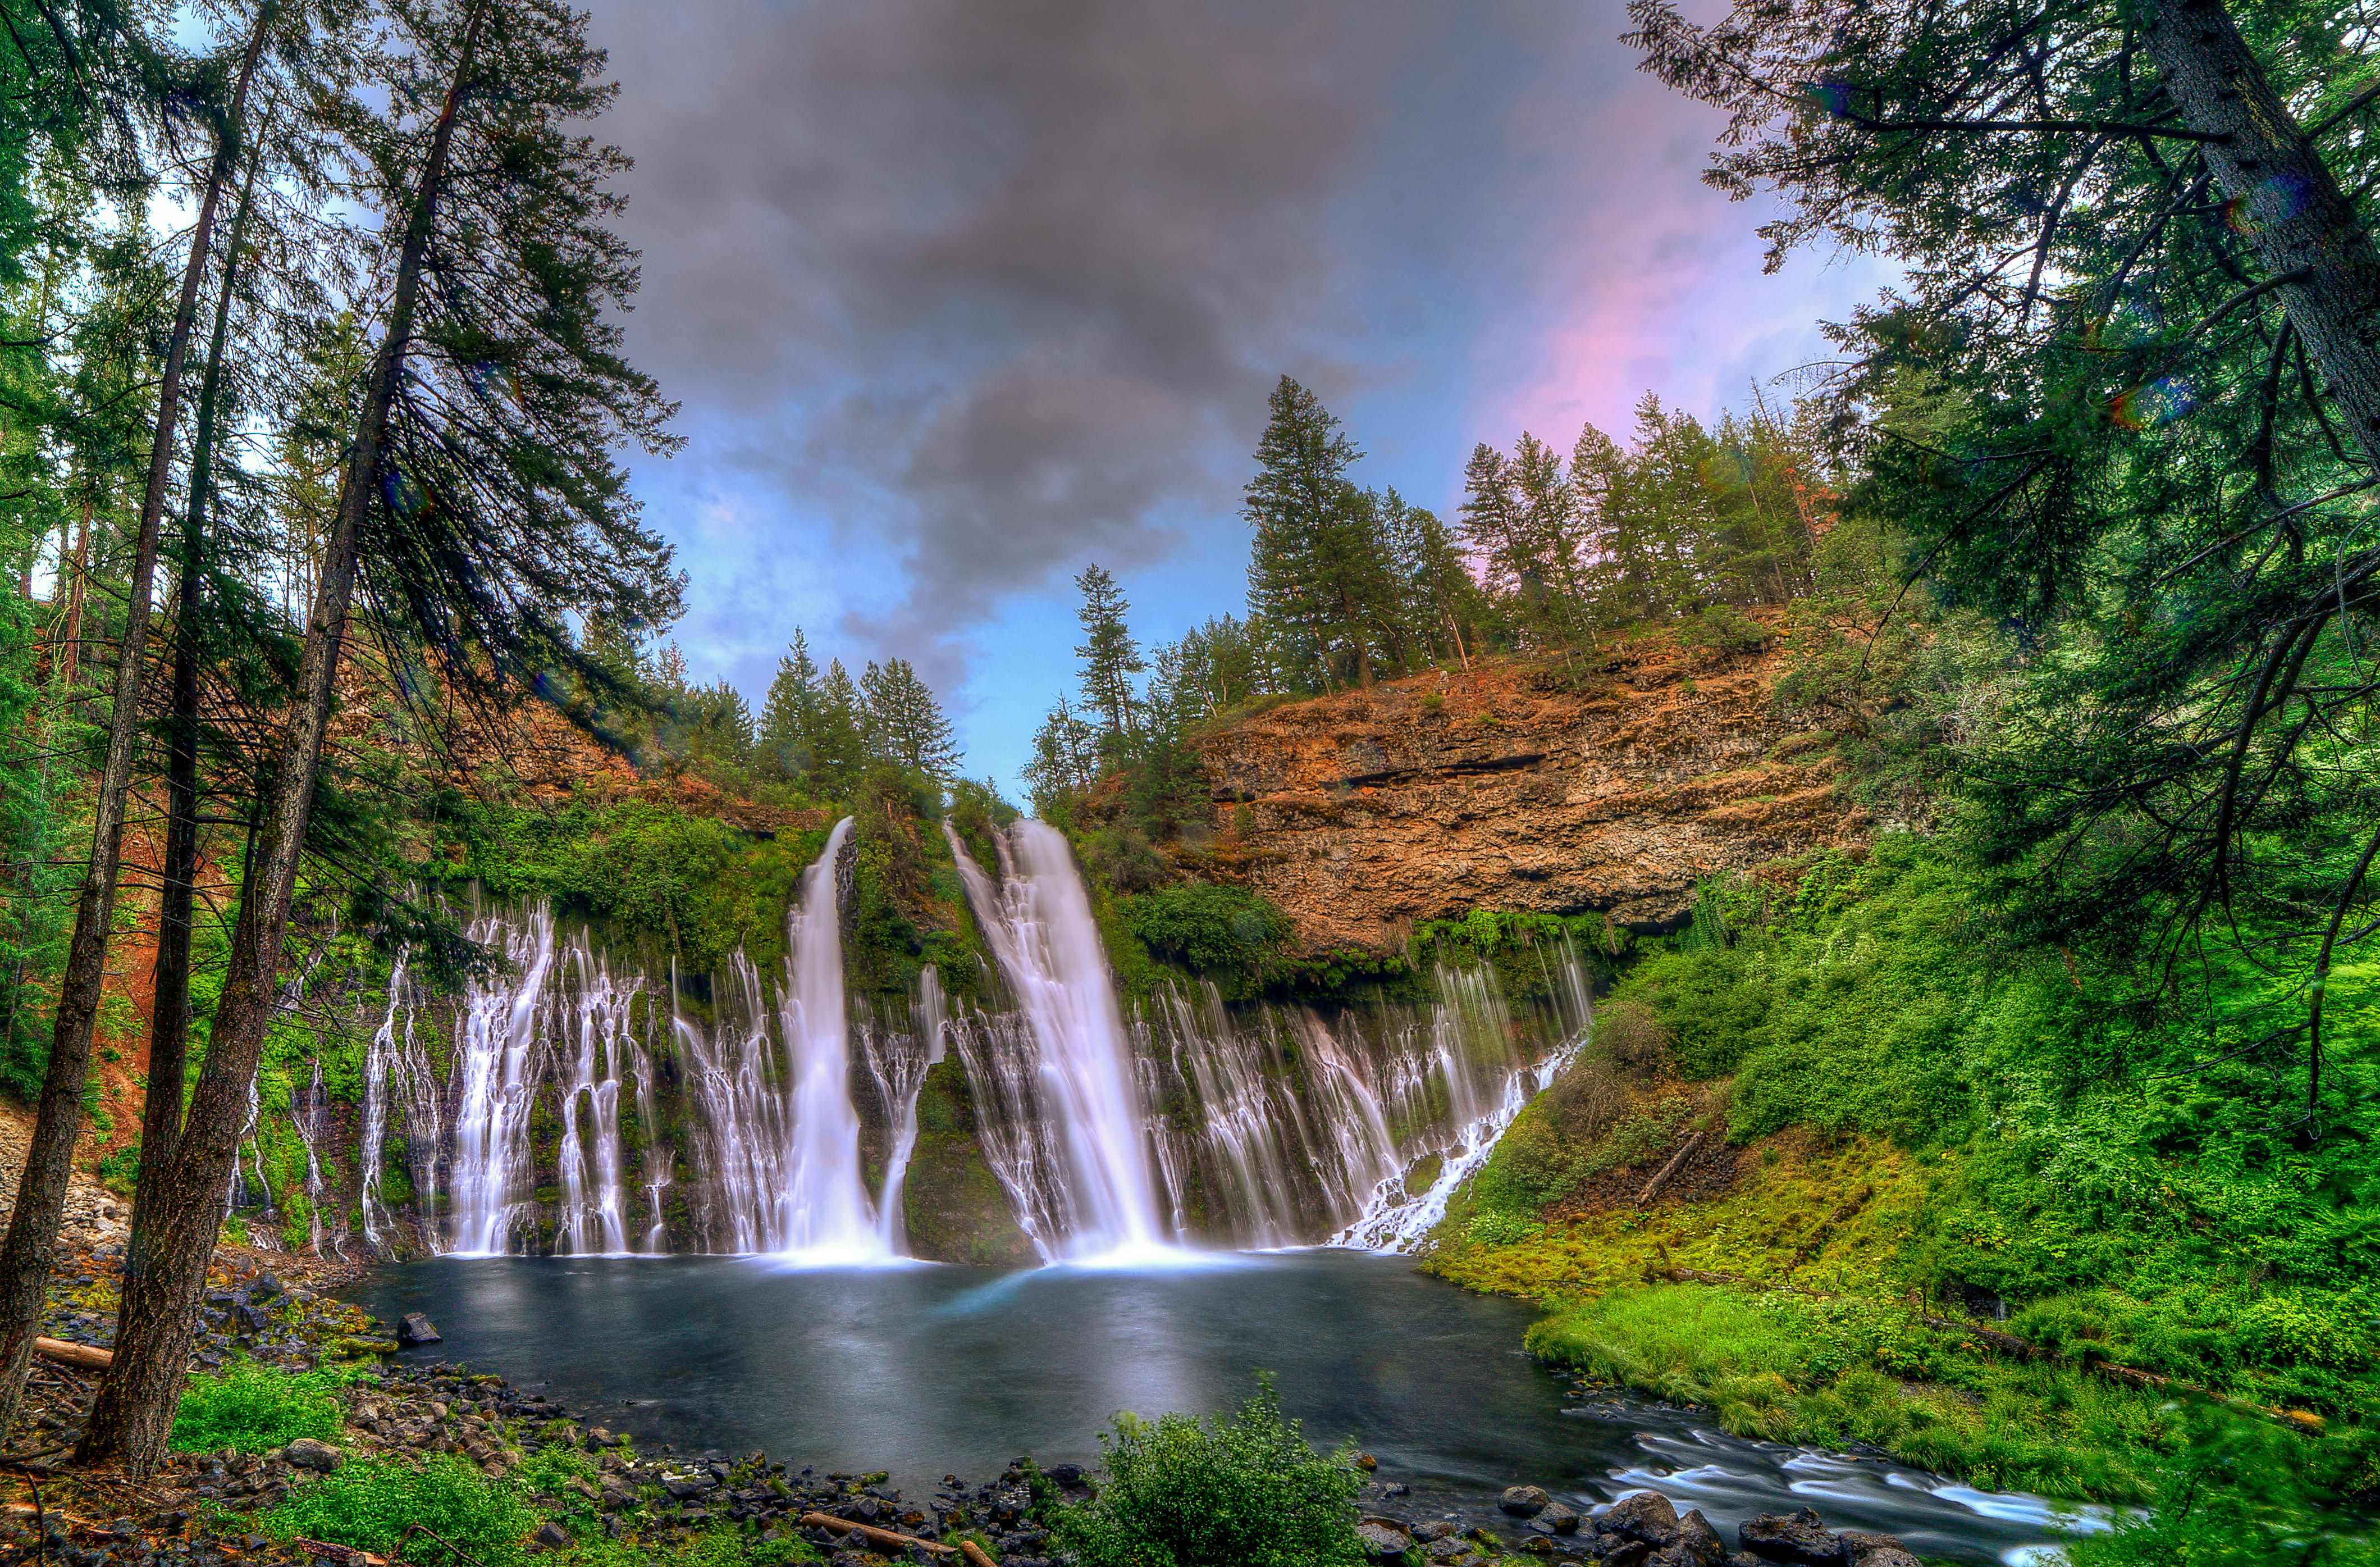
[[(117, 1248), (81, 1255), (52, 1281), (48, 1331), (107, 1348), (114, 1336)], [(359, 1272), (221, 1257), (209, 1281), (207, 1319), (193, 1369), (236, 1355), (281, 1369), (347, 1362), (338, 1441), (300, 1438), (271, 1453), (174, 1455), (145, 1484), (62, 1467), (95, 1391), (86, 1367), (43, 1360), (33, 1396), (5, 1455), (14, 1496), (0, 1512), (0, 1562), (40, 1557), (60, 1567), (228, 1567), (231, 1562), (328, 1562), (376, 1567), (381, 1557), (336, 1541), (286, 1538), (264, 1522), (276, 1505), (350, 1460), (455, 1455), (483, 1477), (514, 1477), (536, 1453), (566, 1446), (585, 1455), (562, 1493), (531, 1493), (543, 1519), (531, 1550), (566, 1550), (595, 1536), (638, 1555), (669, 1550), (719, 1529), (757, 1543), (807, 1541), (835, 1567), (959, 1562), (1052, 1567), (1054, 1507), (1092, 1496), (1095, 1477), (1076, 1465), (1047, 1472), (1019, 1457), (997, 1477), (942, 1479), (928, 1498), (904, 1498), (885, 1474), (821, 1474), (766, 1453), (678, 1453), (583, 1422), (574, 1410), (462, 1365), (386, 1360), (402, 1343), (436, 1343), (426, 1319), (381, 1324), (333, 1300)], [(1371, 1460), (1361, 1460), (1368, 1469)], [(550, 1472), (550, 1469), (543, 1469)], [(1764, 1515), (1737, 1531), (1735, 1548), (1702, 1517), (1640, 1491), (1590, 1515), (1535, 1486), (1514, 1486), (1478, 1505), (1423, 1500), (1390, 1479), (1368, 1479), (1359, 1536), (1371, 1560), (1426, 1567), (1483, 1567), (1497, 1557), (1573, 1560), (1604, 1567), (1916, 1567), (1899, 1541), (1828, 1531), (1816, 1512)], [(431, 1553), (443, 1555), (443, 1553)], [(471, 1562), (462, 1550), (455, 1555)], [(421, 1557), (428, 1560), (428, 1557)], [(478, 1567), (476, 1562), (471, 1567)]]

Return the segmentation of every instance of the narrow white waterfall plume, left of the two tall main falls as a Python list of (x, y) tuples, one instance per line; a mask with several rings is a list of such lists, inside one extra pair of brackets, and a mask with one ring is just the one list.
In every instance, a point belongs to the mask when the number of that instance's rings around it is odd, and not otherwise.
[(859, 1179), (859, 1112), (852, 1110), (850, 1017), (843, 1000), (843, 910), (835, 862), (852, 834), (845, 817), (826, 853), (802, 872), (802, 903), (785, 922), (785, 988), (778, 1019), (793, 1065), (793, 1141), (783, 1229), (769, 1250), (809, 1262), (876, 1262), (890, 1255)]

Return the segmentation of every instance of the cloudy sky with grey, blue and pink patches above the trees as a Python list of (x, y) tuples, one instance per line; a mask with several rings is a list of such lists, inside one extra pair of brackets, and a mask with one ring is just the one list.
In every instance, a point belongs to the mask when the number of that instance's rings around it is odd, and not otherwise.
[[(1718, 117), (1614, 0), (595, 0), (635, 160), (635, 467), (693, 679), (907, 657), (1012, 798), (1109, 567), (1142, 643), (1245, 612), (1273, 383), (1452, 517), (1480, 441), (1626, 433), (1825, 357), (1883, 274), (1764, 276)], [(1775, 395), (1771, 391), (1771, 395)]]

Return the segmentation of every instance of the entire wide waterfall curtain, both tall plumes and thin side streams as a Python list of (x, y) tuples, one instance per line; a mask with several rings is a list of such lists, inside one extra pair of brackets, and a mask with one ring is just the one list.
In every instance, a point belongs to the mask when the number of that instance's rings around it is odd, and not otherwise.
[[(367, 1246), (400, 1246), (395, 1165), (414, 1174), (421, 1238), (462, 1255), (676, 1243), (892, 1260), (926, 1074), (957, 1057), (973, 1143), (1045, 1262), (1183, 1255), (1192, 1238), (1402, 1250), (1587, 1031), (1587, 969), (1559, 931), (1535, 941), (1545, 981), (1526, 1007), (1492, 967), (1445, 962), (1418, 976), (1426, 1003), (1226, 1005), (1214, 984), (1176, 979), (1123, 1005), (1066, 838), (1040, 822), (1000, 834), (997, 881), (945, 824), (992, 998), (952, 1003), (928, 967), (907, 1000), (854, 1010), (838, 898), (852, 831), (835, 824), (802, 872), (776, 974), (735, 950), (707, 984), (681, 988), (669, 969), (664, 1005), (659, 974), (536, 905), (474, 922), (509, 967), (459, 998), (428, 995), (397, 962), (364, 1062)], [(447, 1015), (450, 1031), (419, 1026)], [(314, 1148), (321, 1093), (290, 1100)], [(255, 1117), (240, 1143), (236, 1200), (269, 1205)], [(324, 1186), (309, 1160), (319, 1219)], [(321, 1241), (338, 1248), (336, 1222)]]

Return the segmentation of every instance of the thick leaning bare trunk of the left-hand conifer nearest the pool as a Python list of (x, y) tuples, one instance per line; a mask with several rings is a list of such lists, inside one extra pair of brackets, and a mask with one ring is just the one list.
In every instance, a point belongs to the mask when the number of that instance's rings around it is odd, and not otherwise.
[(157, 1238), (140, 1274), (126, 1272), (117, 1312), (117, 1365), (100, 1384), (90, 1422), (76, 1448), (79, 1462), (121, 1460), (136, 1479), (157, 1467), (174, 1429), (174, 1405), (181, 1398), (198, 1298), (207, 1286), (207, 1260), (214, 1255), (214, 1241), (224, 1224), (231, 1160), (248, 1119), (248, 1086), (255, 1079), (264, 1029), (278, 998), (281, 941), (288, 934), (298, 891), (298, 860), (305, 848), (307, 814), (314, 807), (314, 772), (321, 764), (324, 731), (331, 724), (331, 693), (347, 633), (347, 605), (355, 595), (357, 536), (381, 481), (388, 407), (405, 367), (414, 302), (421, 293), (421, 257), (428, 250), (433, 210), (455, 141), (455, 117), (471, 81), (471, 57), (483, 17), (486, 0), (474, 0), (455, 81), (438, 114), (405, 229), (388, 331), (364, 383), (364, 407), (355, 424), (355, 448), (338, 495), (338, 517), (331, 524), (321, 572), (314, 579), (314, 612), (307, 619), (305, 660), (293, 693), (295, 710), (269, 774), (264, 829), (248, 855), (252, 881), (248, 898), (240, 900), (231, 967), (207, 1041), (207, 1065), (190, 1095), (174, 1162), (157, 1172), (162, 1179), (150, 1193)]

